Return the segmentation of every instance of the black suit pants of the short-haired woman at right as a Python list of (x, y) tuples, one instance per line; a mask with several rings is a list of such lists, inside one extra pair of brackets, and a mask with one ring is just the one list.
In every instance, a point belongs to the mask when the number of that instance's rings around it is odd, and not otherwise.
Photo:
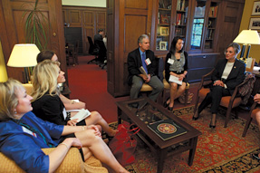
[(207, 96), (205, 97), (205, 99), (199, 105), (198, 110), (197, 110), (198, 113), (203, 111), (211, 103), (211, 108), (210, 108), (211, 113), (217, 114), (217, 110), (219, 108), (219, 104), (220, 104), (222, 97), (230, 96), (230, 95), (231, 95), (231, 93), (227, 89), (225, 89), (221, 86), (213, 86), (210, 89), (210, 91), (207, 93)]

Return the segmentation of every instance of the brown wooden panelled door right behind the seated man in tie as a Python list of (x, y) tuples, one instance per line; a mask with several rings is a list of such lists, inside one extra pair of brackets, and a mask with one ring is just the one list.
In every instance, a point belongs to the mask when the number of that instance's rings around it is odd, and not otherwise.
[(130, 93), (127, 58), (138, 48), (141, 34), (150, 36), (152, 3), (152, 0), (108, 0), (108, 91), (115, 97)]

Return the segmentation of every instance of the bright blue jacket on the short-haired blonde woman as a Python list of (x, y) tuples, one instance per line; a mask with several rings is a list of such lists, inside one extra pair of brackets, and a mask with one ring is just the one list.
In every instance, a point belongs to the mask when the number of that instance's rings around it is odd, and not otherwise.
[[(42, 133), (45, 141), (57, 146), (63, 133), (63, 126), (43, 121), (37, 118), (33, 112), (29, 111), (18, 120), (27, 124), (34, 130)], [(0, 122), (0, 151), (9, 159), (22, 168), (25, 172), (49, 172), (49, 156), (43, 153), (42, 148), (50, 148), (43, 138), (30, 130), (24, 130), (15, 120)]]

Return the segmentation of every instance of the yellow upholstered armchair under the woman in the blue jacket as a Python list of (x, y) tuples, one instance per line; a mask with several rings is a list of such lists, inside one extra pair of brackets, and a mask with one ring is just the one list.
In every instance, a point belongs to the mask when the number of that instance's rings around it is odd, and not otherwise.
[[(55, 148), (42, 149), (45, 154), (49, 154)], [(0, 152), (1, 168), (0, 173), (15, 172), (24, 173), (24, 170), (16, 165), (14, 160), (7, 158)], [(62, 164), (56, 169), (56, 173), (71, 172), (82, 173), (84, 172), (84, 165), (79, 149), (71, 148), (66, 157), (63, 159)]]

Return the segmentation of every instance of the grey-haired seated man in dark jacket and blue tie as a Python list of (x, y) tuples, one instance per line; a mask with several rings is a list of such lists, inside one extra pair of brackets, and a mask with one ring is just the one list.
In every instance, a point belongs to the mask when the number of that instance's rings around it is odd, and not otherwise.
[[(146, 34), (140, 35), (138, 39), (139, 48), (128, 55), (128, 82), (131, 85), (130, 99), (138, 98), (143, 82), (152, 87), (149, 99), (156, 101), (159, 93), (163, 91), (163, 83), (156, 76), (156, 61), (152, 51), (149, 50), (149, 37)], [(140, 72), (143, 67), (148, 75)]]

